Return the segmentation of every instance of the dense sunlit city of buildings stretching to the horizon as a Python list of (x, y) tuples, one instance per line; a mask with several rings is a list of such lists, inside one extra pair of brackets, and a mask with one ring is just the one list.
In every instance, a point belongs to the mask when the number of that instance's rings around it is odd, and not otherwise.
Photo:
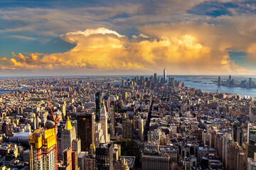
[(1, 168), (255, 169), (255, 81), (216, 78), (0, 79)]

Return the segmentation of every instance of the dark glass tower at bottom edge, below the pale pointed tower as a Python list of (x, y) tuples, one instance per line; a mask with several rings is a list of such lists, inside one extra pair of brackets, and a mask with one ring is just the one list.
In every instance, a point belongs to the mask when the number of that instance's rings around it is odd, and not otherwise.
[(113, 144), (100, 143), (96, 147), (96, 165), (98, 170), (113, 170)]

